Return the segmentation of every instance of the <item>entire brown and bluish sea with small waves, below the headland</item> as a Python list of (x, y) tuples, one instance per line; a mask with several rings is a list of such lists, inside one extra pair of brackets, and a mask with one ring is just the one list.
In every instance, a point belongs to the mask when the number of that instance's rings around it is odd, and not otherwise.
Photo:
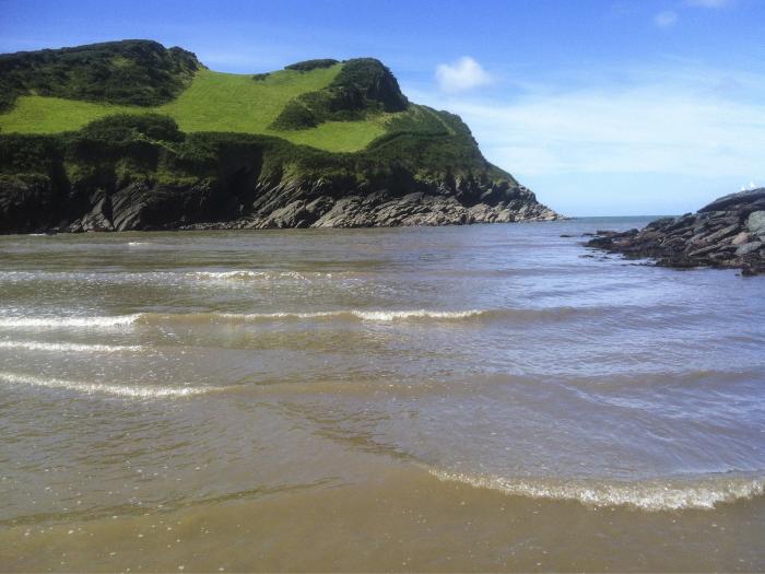
[(0, 570), (764, 570), (765, 278), (647, 221), (0, 237)]

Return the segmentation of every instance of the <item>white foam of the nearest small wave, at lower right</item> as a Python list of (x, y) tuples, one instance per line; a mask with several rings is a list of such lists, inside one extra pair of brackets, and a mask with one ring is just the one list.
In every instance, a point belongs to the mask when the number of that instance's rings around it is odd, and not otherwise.
[(428, 470), (444, 481), (502, 491), (514, 496), (572, 500), (588, 506), (632, 506), (643, 511), (711, 509), (718, 504), (765, 494), (765, 479), (702, 478), (697, 481), (593, 482), (503, 479)]

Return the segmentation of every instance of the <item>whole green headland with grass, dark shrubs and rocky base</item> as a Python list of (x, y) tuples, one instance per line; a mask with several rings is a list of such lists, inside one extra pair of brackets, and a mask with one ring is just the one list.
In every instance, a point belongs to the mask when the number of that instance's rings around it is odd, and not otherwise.
[(0, 56), (0, 86), (5, 233), (555, 216), (372, 58), (229, 74), (125, 40)]

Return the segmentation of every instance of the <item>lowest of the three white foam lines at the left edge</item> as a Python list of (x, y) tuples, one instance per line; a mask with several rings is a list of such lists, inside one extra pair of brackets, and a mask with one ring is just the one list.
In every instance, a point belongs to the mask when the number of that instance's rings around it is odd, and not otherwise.
[(190, 397), (193, 395), (203, 395), (213, 390), (217, 390), (214, 387), (160, 387), (149, 385), (109, 385), (106, 383), (86, 383), (81, 380), (36, 377), (31, 375), (19, 375), (15, 373), (3, 372), (0, 372), (0, 379), (5, 380), (7, 383), (11, 383), (13, 385), (31, 385), (35, 387), (75, 390), (87, 395), (102, 394), (139, 399)]

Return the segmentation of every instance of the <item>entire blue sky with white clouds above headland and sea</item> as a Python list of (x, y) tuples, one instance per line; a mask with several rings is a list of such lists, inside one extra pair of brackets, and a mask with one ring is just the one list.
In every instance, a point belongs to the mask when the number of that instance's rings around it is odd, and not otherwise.
[(0, 52), (123, 38), (242, 73), (376, 57), (567, 215), (765, 186), (765, 0), (0, 0)]

